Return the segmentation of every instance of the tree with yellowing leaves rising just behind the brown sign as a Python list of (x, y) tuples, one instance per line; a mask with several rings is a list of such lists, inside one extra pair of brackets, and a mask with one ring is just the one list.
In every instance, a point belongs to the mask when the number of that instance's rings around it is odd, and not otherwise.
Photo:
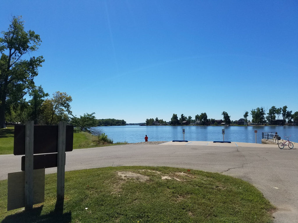
[(44, 100), (41, 106), (43, 123), (52, 125), (59, 121), (67, 121), (68, 115), (72, 115), (70, 102), (72, 102), (72, 97), (66, 92), (59, 91), (53, 94), (53, 98)]

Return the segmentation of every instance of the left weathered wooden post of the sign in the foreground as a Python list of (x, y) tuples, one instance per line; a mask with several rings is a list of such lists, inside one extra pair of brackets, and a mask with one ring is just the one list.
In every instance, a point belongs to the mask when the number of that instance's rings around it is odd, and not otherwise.
[(30, 211), (33, 208), (34, 121), (26, 122), (25, 131), (25, 211)]

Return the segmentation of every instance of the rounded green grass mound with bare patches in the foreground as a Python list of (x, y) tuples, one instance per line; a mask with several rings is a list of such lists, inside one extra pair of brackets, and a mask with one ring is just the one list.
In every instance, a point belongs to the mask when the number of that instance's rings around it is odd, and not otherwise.
[[(149, 180), (123, 179), (118, 171)], [(30, 212), (6, 211), (7, 180), (0, 181), (0, 221), (269, 223), (274, 211), (254, 186), (226, 175), (170, 167), (106, 167), (66, 172), (64, 209), (59, 214), (54, 212), (56, 174), (46, 175), (45, 181), (45, 202)]]

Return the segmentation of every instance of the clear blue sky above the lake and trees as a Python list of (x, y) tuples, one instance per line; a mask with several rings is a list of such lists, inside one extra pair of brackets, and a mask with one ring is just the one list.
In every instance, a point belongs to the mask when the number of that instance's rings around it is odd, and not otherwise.
[(0, 8), (1, 31), (22, 15), (41, 36), (30, 55), (45, 59), (35, 84), (71, 95), (77, 116), (139, 123), (298, 111), (298, 1), (2, 0)]

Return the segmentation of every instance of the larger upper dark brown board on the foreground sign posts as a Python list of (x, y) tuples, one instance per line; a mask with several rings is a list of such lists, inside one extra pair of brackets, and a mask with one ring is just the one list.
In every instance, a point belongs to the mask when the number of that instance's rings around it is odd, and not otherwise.
[[(25, 127), (25, 125), (15, 125), (13, 144), (14, 155), (25, 155)], [(66, 152), (72, 151), (73, 128), (73, 125), (66, 125)], [(58, 125), (34, 125), (33, 153), (40, 154), (57, 152)]]

